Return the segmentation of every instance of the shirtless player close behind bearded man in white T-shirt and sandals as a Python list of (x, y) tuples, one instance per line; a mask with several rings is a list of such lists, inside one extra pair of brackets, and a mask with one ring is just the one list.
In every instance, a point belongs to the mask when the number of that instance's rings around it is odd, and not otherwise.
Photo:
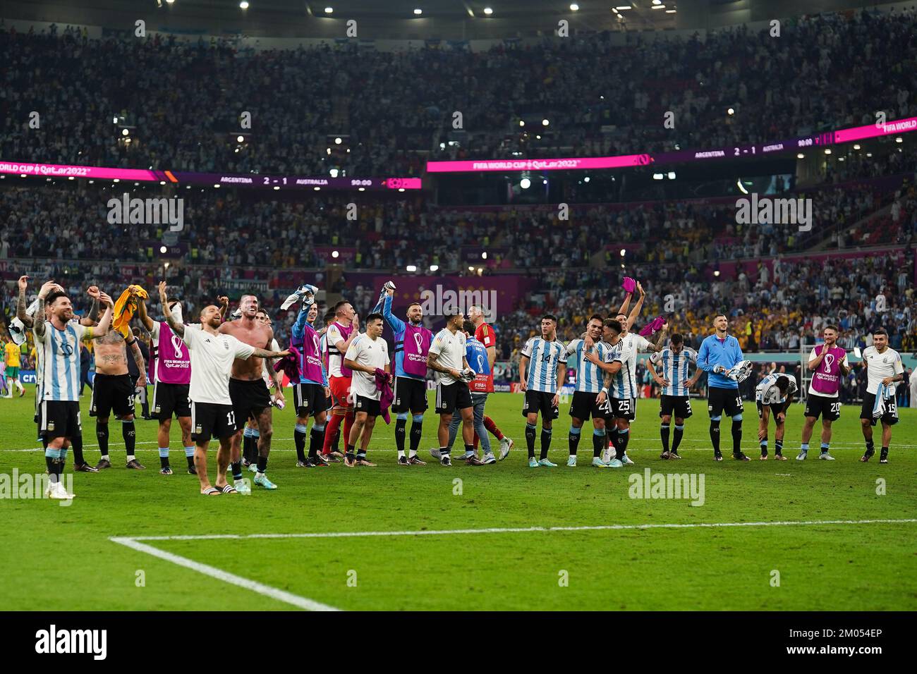
[[(241, 318), (229, 321), (220, 326), (223, 335), (236, 337), (243, 344), (255, 348), (271, 350), (274, 330), (259, 320), (259, 302), (255, 295), (242, 295), (239, 300)], [(280, 372), (275, 372), (273, 359), (268, 360), (268, 371), (277, 387), (275, 402), (283, 401), (283, 379)], [(262, 359), (253, 356), (247, 360), (233, 360), (232, 372), (229, 375), (229, 397), (236, 413), (238, 430), (232, 438), (232, 477), (238, 492), (248, 491), (242, 481), (242, 430), (249, 416), (258, 422), (258, 467), (255, 472), (255, 484), (265, 489), (277, 489), (277, 485), (268, 480), (265, 471), (268, 469), (268, 455), (271, 453), (271, 435), (273, 419), (271, 414), (271, 393), (262, 379), (264, 365)]]

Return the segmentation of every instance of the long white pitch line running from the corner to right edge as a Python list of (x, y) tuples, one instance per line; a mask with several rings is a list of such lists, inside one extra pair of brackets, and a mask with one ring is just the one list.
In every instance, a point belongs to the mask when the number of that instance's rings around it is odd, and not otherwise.
[[(130, 541), (197, 541), (219, 539), (256, 539), (256, 538), (351, 538), (366, 536), (460, 536), (465, 534), (525, 534), (530, 532), (553, 531), (626, 531), (633, 529), (703, 529), (733, 526), (818, 526), (818, 525), (900, 525), (912, 524), (917, 519), (900, 520), (812, 520), (801, 522), (699, 522), (690, 524), (652, 524), (652, 525), (591, 525), (591, 526), (519, 526), (490, 529), (440, 529), (422, 531), (340, 531), (316, 532), (312, 534), (209, 534), (202, 536), (131, 536), (130, 538), (112, 538), (122, 542)], [(125, 544), (127, 545), (127, 544)], [(140, 545), (140, 544), (138, 544)], [(150, 548), (156, 549), (156, 548)], [(164, 553), (168, 554), (168, 553)]]

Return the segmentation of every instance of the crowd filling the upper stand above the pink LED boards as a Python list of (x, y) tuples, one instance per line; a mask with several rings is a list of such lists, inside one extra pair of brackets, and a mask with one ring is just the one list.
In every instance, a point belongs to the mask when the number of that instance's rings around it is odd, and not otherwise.
[[(704, 38), (628, 34), (626, 45), (600, 33), (402, 51), (356, 40), (239, 50), (231, 39), (0, 28), (0, 156), (370, 176), (417, 174), (427, 158), (759, 143), (872, 124), (877, 110), (889, 120), (917, 115), (915, 28), (913, 9), (864, 10), (793, 18), (779, 38), (738, 26)], [(29, 126), (33, 111), (38, 128)], [(669, 111), (674, 128), (663, 124)], [(329, 142), (337, 137), (340, 145)]]

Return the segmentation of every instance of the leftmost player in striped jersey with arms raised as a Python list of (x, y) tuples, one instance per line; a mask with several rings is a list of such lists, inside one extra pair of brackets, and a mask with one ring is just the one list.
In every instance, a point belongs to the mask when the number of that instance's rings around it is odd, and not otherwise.
[[(73, 494), (67, 493), (60, 479), (72, 439), (83, 436), (80, 424), (80, 342), (89, 342), (108, 333), (115, 303), (96, 288), (96, 294), (91, 296), (105, 303), (105, 315), (98, 326), (82, 326), (72, 321), (73, 305), (66, 293), (56, 289), (58, 287), (51, 281), (41, 286), (32, 330), (42, 359), (39, 418), (42, 434), (48, 441), (45, 462), (50, 481), (46, 495), (69, 500)], [(48, 320), (45, 318), (46, 304), (50, 307)]]

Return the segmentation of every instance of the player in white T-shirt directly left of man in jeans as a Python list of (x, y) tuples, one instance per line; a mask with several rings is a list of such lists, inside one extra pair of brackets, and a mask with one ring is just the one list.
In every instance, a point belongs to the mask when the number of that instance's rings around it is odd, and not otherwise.
[[(469, 382), (475, 372), (468, 366), (465, 353), (465, 315), (456, 312), (447, 315), (446, 327), (436, 333), (426, 357), (426, 366), (436, 372), (436, 414), (439, 414), (439, 463), (451, 466), (449, 458), (449, 425), (458, 411), (462, 420), (461, 435), (465, 441), (465, 455), (474, 455), (474, 428), (472, 427), (471, 392)], [(431, 452), (432, 453), (432, 452)], [(434, 456), (436, 456), (434, 454)], [(481, 459), (470, 461), (481, 465)]]

